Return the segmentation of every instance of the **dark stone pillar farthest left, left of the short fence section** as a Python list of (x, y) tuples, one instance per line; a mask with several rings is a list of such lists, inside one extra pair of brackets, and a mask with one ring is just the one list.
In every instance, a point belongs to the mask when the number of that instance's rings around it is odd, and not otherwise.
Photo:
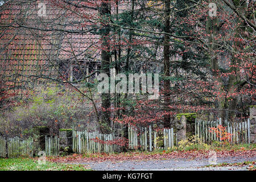
[(34, 127), (34, 155), (38, 155), (39, 151), (46, 150), (46, 136), (49, 135), (49, 127), (46, 126), (36, 126)]

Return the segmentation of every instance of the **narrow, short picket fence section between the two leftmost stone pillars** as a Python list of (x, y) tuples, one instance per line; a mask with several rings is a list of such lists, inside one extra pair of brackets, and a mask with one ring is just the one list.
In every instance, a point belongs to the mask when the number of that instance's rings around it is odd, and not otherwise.
[(60, 139), (57, 136), (46, 136), (46, 155), (58, 156), (60, 154)]

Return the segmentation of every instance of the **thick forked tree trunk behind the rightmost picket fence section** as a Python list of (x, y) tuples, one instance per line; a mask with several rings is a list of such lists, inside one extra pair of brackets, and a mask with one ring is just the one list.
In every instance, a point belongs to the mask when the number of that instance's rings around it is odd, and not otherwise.
[[(244, 0), (241, 1), (234, 1), (233, 0), (234, 6), (236, 6), (237, 9), (240, 9), (241, 13), (245, 13), (246, 10), (246, 2)], [(218, 31), (218, 18), (213, 18), (208, 20), (208, 25), (207, 25), (207, 30), (208, 33), (210, 30), (212, 30), (212, 49), (210, 50), (210, 63), (212, 67), (212, 73), (214, 77), (214, 81), (217, 81), (218, 84), (218, 92), (220, 94), (217, 96), (217, 101), (218, 101), (218, 117), (222, 118), (223, 120), (227, 119), (229, 121), (233, 121), (234, 118), (236, 117), (236, 108), (237, 108), (237, 102), (238, 98), (236, 96), (231, 96), (227, 98), (226, 96), (232, 93), (236, 93), (241, 89), (240, 83), (240, 75), (239, 75), (239, 68), (238, 67), (230, 67), (229, 73), (229, 80), (228, 80), (228, 86), (224, 85), (224, 82), (221, 79), (220, 76), (220, 69), (218, 65), (218, 57), (217, 51), (218, 46), (217, 46), (217, 40), (214, 39), (214, 36), (217, 36), (219, 34)], [(238, 19), (238, 23), (241, 23), (241, 19)], [(240, 38), (240, 34), (242, 34), (245, 31), (245, 24), (241, 24), (240, 27), (236, 29), (235, 37)], [(241, 47), (239, 42), (235, 42), (236, 47)], [(237, 48), (234, 48), (234, 52), (236, 53), (238, 51)], [(234, 55), (232, 55), (232, 65), (240, 65), (240, 59), (237, 59)]]

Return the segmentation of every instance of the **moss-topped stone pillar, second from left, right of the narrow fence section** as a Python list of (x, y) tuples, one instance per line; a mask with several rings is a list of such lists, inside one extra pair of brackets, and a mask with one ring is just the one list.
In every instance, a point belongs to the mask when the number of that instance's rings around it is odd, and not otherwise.
[(60, 137), (60, 155), (68, 155), (71, 154), (72, 145), (73, 145), (73, 135), (72, 129), (60, 129), (59, 130), (59, 137)]

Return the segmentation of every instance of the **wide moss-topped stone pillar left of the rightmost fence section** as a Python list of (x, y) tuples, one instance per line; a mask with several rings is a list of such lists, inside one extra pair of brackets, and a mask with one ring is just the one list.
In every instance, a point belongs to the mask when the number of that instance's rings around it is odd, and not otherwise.
[(188, 137), (193, 135), (193, 129), (195, 122), (194, 119), (196, 118), (196, 113), (181, 113), (176, 115), (177, 122), (176, 122), (176, 136), (177, 136), (177, 143), (181, 140), (185, 140)]

